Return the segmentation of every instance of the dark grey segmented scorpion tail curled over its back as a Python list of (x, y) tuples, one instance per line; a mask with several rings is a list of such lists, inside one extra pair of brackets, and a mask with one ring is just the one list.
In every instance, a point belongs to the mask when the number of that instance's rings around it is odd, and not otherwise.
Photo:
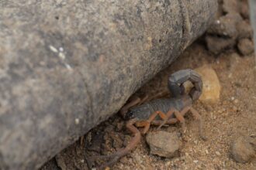
[(194, 70), (179, 70), (168, 78), (168, 89), (173, 97), (180, 97), (185, 93), (183, 83), (190, 81), (194, 87), (189, 91), (192, 100), (198, 100), (202, 93), (202, 79)]

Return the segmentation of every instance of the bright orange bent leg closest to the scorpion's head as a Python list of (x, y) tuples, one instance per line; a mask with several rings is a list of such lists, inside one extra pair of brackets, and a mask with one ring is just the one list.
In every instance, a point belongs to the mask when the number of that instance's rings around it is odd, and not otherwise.
[(158, 111), (155, 111), (153, 114), (150, 115), (150, 117), (147, 119), (147, 121), (138, 121), (137, 122), (137, 127), (144, 127), (144, 130), (142, 132), (142, 134), (146, 134), (147, 131), (149, 130), (150, 128), (150, 124), (152, 121), (154, 121), (154, 118), (157, 117), (157, 115), (159, 115), (163, 120), (166, 119), (166, 115), (158, 110)]

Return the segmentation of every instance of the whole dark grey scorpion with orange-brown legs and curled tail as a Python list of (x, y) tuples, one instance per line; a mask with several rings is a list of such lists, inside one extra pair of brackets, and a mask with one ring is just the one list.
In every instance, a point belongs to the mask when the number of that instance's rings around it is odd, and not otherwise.
[[(189, 93), (185, 93), (184, 83), (190, 81), (193, 85)], [(202, 79), (194, 70), (179, 70), (168, 77), (168, 90), (171, 92), (171, 98), (160, 98), (144, 103), (147, 97), (136, 100), (124, 105), (120, 114), (127, 121), (126, 128), (133, 134), (133, 138), (125, 148), (121, 148), (112, 155), (101, 155), (98, 158), (112, 159), (101, 168), (112, 165), (119, 158), (128, 154), (140, 142), (141, 134), (146, 134), (150, 125), (158, 126), (159, 130), (164, 124), (182, 124), (182, 134), (185, 133), (184, 115), (189, 111), (195, 119), (199, 120), (199, 135), (203, 140), (206, 137), (202, 135), (202, 118), (197, 110), (192, 107), (195, 100), (198, 100), (202, 93)], [(141, 104), (141, 105), (138, 105)], [(142, 132), (138, 128), (144, 128)]]

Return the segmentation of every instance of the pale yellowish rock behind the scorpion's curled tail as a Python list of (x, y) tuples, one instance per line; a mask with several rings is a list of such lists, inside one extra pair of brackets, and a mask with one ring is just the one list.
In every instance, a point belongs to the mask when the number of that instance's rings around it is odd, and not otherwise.
[[(195, 71), (202, 77), (202, 94), (199, 100), (205, 103), (215, 104), (220, 99), (220, 80), (211, 66), (205, 65), (196, 68)], [(186, 91), (192, 87), (192, 83), (184, 84)]]

